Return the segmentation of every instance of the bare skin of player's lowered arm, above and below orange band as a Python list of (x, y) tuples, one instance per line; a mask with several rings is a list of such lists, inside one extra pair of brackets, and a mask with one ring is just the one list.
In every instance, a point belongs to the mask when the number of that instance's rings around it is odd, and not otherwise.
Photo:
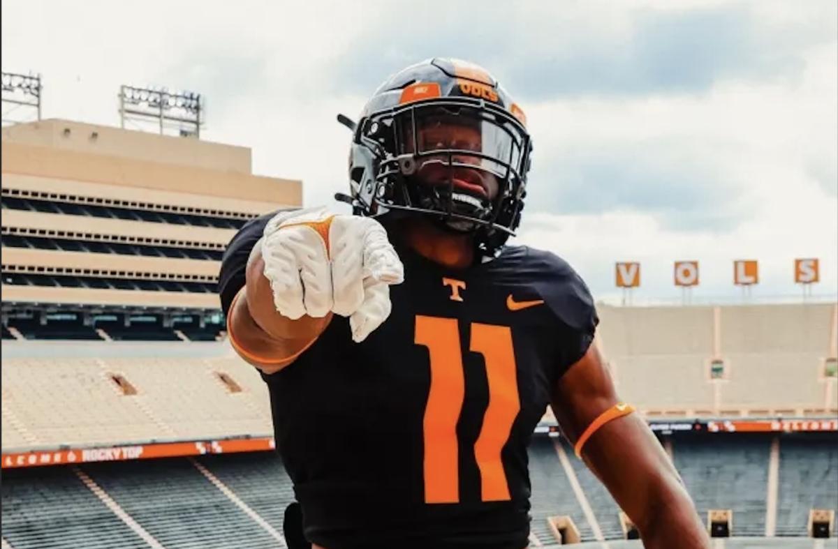
[[(586, 428), (619, 403), (596, 346), (556, 383), (553, 411), (575, 444)], [(647, 549), (706, 549), (710, 540), (678, 472), (637, 413), (603, 424), (582, 459), (634, 522)]]

